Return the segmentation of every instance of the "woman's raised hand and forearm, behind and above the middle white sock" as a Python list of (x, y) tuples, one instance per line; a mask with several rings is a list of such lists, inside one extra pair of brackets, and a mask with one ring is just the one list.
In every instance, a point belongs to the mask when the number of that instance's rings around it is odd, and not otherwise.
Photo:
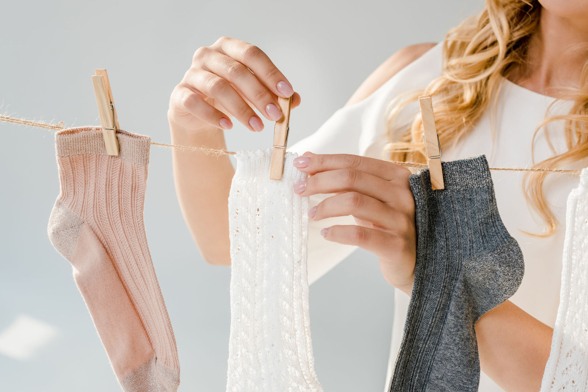
[[(225, 148), (222, 129), (235, 118), (249, 130), (263, 129), (262, 120), (278, 120), (277, 96), (300, 96), (259, 48), (222, 37), (196, 51), (192, 66), (173, 90), (168, 110), (172, 143)], [(215, 157), (188, 149), (172, 152), (176, 193), (186, 223), (204, 259), (230, 265), (228, 197), (235, 173), (228, 156)]]

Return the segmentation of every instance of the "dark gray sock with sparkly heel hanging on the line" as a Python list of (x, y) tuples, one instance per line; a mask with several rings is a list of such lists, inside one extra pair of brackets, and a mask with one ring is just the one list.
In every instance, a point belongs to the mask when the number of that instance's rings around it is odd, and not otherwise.
[(486, 157), (443, 162), (410, 176), (415, 198), (415, 281), (390, 392), (477, 391), (474, 324), (512, 296), (523, 254), (500, 219)]

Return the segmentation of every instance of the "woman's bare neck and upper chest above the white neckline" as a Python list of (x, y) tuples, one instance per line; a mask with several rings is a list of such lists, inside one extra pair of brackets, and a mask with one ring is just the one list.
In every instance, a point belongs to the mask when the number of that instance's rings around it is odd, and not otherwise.
[(588, 59), (588, 21), (562, 18), (543, 8), (531, 36), (527, 62), (510, 81), (543, 95), (558, 96), (580, 85)]

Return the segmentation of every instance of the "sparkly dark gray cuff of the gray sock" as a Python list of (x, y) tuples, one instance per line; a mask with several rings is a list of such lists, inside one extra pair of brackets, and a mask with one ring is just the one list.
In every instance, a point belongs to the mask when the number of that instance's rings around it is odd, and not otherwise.
[(442, 162), (445, 189), (432, 190), (429, 168), (418, 170), (410, 176), (413, 195), (425, 197), (429, 192), (452, 192), (471, 188), (492, 186), (490, 167), (485, 155)]

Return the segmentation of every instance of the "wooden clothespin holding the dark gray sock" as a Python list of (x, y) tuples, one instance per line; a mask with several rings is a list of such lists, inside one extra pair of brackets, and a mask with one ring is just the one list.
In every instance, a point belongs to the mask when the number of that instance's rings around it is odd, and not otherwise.
[(433, 101), (430, 95), (419, 96), (420, 116), (423, 119), (423, 142), (429, 165), (432, 189), (445, 189), (441, 169), (441, 143), (433, 116)]

